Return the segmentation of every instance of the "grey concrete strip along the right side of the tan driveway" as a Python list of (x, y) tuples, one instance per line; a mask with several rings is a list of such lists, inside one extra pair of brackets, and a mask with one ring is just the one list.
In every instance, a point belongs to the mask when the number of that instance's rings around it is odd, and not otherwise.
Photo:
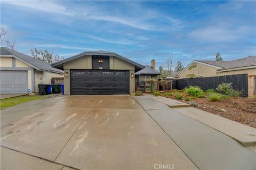
[(148, 96), (133, 97), (199, 169), (255, 169), (256, 153)]

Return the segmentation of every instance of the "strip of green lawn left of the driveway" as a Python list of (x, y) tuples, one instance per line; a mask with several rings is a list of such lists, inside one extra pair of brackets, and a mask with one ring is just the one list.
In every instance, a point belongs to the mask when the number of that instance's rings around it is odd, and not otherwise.
[(7, 98), (7, 99), (2, 99), (0, 100), (0, 109), (5, 109), (10, 106), (15, 106), (21, 103), (25, 103), (27, 101), (31, 100), (36, 100), (36, 99), (41, 99), (45, 98), (46, 96), (41, 96), (41, 95), (26, 95), (26, 96), (18, 96), (18, 97), (12, 97), (12, 98)]

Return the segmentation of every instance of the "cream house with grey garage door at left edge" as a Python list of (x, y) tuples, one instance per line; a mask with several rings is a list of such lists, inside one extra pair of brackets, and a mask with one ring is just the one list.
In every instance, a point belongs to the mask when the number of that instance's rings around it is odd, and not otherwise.
[(0, 49), (1, 94), (26, 94), (38, 92), (38, 84), (51, 84), (52, 78), (63, 77), (63, 71), (51, 64), (15, 50)]

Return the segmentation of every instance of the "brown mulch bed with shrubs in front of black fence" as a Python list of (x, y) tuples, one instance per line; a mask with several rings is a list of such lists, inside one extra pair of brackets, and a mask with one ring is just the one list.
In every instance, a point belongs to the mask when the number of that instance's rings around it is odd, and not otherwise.
[[(165, 96), (174, 99), (173, 96)], [(219, 115), (247, 126), (256, 128), (256, 100), (252, 98), (231, 97), (222, 101), (211, 101), (208, 98), (191, 99), (184, 103), (195, 102), (198, 109)], [(218, 112), (216, 109), (223, 108), (227, 112)]]

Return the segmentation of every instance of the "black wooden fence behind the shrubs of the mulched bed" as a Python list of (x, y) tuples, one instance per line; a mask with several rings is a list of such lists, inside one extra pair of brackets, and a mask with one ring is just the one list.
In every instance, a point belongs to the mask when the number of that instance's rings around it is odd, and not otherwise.
[(248, 97), (248, 75), (247, 74), (235, 74), (235, 75), (223, 75), (217, 77), (207, 78), (185, 78), (172, 80), (173, 89), (183, 89), (188, 86), (199, 86), (202, 90), (216, 89), (221, 83), (233, 83), (233, 89), (242, 91), (244, 97)]

